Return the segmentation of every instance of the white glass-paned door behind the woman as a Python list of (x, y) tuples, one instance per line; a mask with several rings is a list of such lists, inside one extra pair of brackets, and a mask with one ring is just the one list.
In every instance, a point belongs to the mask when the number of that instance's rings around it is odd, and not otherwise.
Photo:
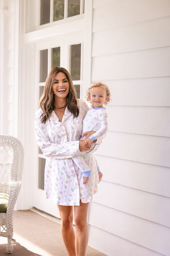
[[(65, 35), (36, 43), (36, 107), (39, 107), (39, 98), (45, 86), (47, 74), (54, 66), (62, 66), (69, 71), (73, 84), (76, 88), (77, 98), (81, 97), (82, 91), (82, 43), (83, 33)], [(37, 168), (34, 181), (34, 207), (59, 217), (59, 211), (55, 201), (46, 199), (44, 191), (45, 157), (37, 146)]]

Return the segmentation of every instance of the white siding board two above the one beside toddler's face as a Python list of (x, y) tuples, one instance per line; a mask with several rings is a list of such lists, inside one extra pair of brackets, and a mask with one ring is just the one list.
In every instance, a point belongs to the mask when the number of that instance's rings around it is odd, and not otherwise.
[(93, 36), (92, 56), (169, 46), (169, 23), (170, 17), (165, 17), (96, 32)]

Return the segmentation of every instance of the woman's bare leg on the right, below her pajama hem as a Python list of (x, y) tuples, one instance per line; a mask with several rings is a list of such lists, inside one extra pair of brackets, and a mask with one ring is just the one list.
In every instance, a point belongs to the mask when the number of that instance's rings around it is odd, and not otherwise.
[(76, 256), (85, 256), (88, 243), (88, 214), (89, 203), (82, 203), (80, 206), (74, 206), (74, 220), (76, 225)]

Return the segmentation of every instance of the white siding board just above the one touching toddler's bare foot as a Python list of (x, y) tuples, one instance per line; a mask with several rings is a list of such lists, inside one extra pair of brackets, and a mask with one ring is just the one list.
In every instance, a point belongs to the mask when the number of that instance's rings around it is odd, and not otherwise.
[(99, 155), (170, 167), (170, 139), (151, 135), (107, 132)]

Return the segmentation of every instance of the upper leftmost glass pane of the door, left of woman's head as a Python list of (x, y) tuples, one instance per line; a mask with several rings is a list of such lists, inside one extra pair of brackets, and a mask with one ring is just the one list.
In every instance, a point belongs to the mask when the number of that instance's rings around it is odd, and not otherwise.
[(48, 49), (40, 50), (40, 82), (45, 82), (48, 75)]

